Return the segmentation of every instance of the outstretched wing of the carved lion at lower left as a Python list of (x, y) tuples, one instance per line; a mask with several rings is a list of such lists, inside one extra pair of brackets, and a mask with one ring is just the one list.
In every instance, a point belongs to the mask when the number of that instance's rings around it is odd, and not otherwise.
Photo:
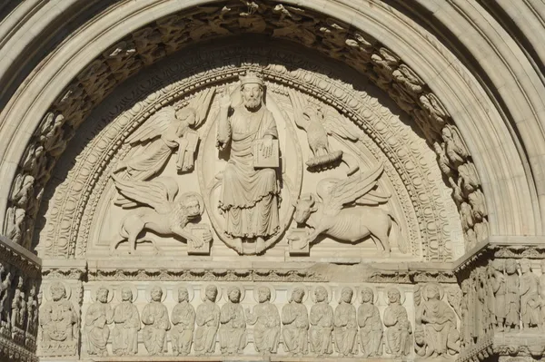
[[(126, 199), (136, 204), (148, 205), (160, 214), (173, 210), (173, 201), (178, 193), (178, 184), (171, 178), (157, 178), (154, 181), (123, 180), (115, 175), (115, 188)], [(122, 205), (124, 209), (128, 208)]]

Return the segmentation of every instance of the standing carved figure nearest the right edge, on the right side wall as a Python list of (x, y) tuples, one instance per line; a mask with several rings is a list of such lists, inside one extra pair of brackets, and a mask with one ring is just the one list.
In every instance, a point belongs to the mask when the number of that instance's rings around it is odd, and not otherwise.
[(520, 259), (520, 319), (522, 328), (541, 328), (540, 279), (532, 273), (529, 259)]

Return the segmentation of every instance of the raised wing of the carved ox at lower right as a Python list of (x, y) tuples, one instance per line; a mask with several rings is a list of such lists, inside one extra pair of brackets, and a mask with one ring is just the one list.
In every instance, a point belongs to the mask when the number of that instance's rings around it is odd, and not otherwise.
[(380, 163), (370, 172), (360, 171), (343, 181), (331, 182), (325, 179), (318, 182), (316, 193), (323, 200), (325, 213), (335, 216), (344, 205), (355, 202), (372, 191), (382, 171), (384, 171), (384, 165)]

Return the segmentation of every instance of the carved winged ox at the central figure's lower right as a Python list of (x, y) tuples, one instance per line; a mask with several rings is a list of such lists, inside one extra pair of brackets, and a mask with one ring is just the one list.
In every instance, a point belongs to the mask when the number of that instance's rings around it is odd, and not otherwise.
[[(294, 205), (293, 219), (309, 226), (311, 233), (300, 237), (301, 233), (291, 232), (288, 239), (306, 238), (302, 242), (306, 247), (320, 234), (351, 243), (371, 236), (377, 249), (390, 255), (391, 221), (397, 224), (397, 220), (390, 211), (373, 207), (390, 199), (390, 195), (376, 190), (383, 170), (383, 165), (379, 164), (368, 173), (360, 171), (345, 180), (328, 178), (319, 181), (316, 186), (317, 198), (312, 193), (303, 194)], [(297, 235), (297, 239), (293, 235)], [(402, 253), (407, 252), (407, 245), (401, 238), (398, 246)]]

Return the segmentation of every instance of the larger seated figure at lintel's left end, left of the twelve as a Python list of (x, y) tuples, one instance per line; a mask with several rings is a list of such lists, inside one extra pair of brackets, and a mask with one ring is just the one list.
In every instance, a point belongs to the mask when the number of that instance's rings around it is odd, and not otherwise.
[(42, 351), (48, 356), (74, 356), (78, 347), (79, 316), (62, 282), (54, 281), (49, 293), (51, 299), (40, 308)]

